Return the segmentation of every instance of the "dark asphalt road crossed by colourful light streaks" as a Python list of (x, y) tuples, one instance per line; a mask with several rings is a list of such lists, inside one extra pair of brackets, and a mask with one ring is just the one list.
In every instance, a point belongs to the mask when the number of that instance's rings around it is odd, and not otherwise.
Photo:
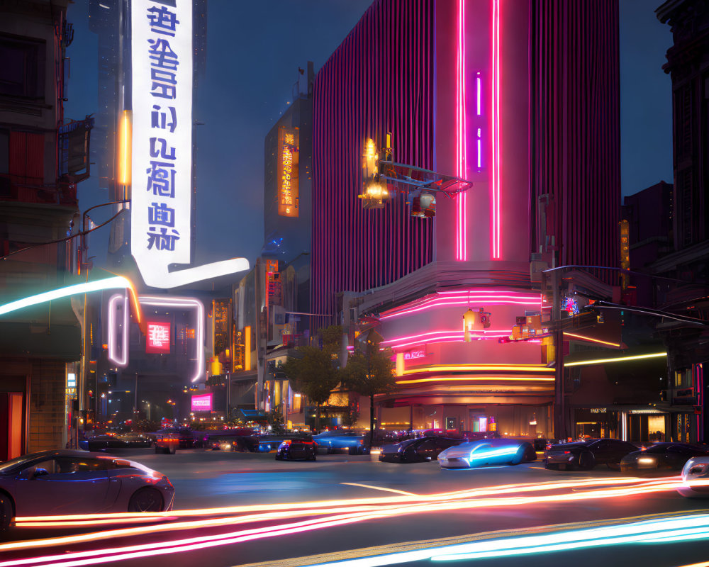
[[(503, 498), (503, 500), (485, 500), (475, 505), (452, 503), (440, 505), (440, 500), (421, 503), (406, 508), (407, 503), (391, 505), (386, 515), (352, 520), (348, 515), (355, 512), (351, 503), (338, 503), (338, 522), (341, 524), (302, 525), (297, 522), (320, 521), (323, 512), (298, 515), (298, 517), (259, 519), (258, 522), (242, 520), (235, 524), (214, 524), (177, 530), (164, 524), (164, 529), (149, 535), (130, 536), (110, 540), (111, 546), (143, 545), (138, 551), (142, 555), (145, 549), (152, 549), (155, 542), (182, 541), (196, 538), (200, 541), (219, 541), (225, 534), (238, 537), (228, 544), (208, 544), (203, 547), (195, 544), (194, 549), (183, 548), (179, 553), (160, 554), (150, 557), (132, 558), (121, 556), (120, 563), (127, 566), (167, 565), (171, 567), (205, 565), (210, 567), (242, 566), (251, 563), (262, 565), (287, 566), (323, 563), (332, 558), (347, 560), (358, 556), (350, 550), (381, 546), (375, 551), (362, 552), (364, 555), (381, 555), (392, 551), (396, 544), (408, 542), (435, 541), (426, 546), (446, 546), (461, 541), (479, 538), (479, 534), (488, 534), (490, 538), (523, 536), (538, 527), (557, 524), (574, 524), (567, 529), (594, 527), (598, 522), (618, 520), (630, 522), (628, 518), (666, 514), (694, 514), (709, 508), (709, 501), (687, 500), (677, 495), (674, 490), (658, 490), (652, 493), (619, 494), (601, 498), (601, 493), (588, 493), (593, 486), (575, 486), (559, 490), (540, 490), (545, 483), (559, 481), (598, 481), (613, 482), (624, 475), (598, 466), (593, 471), (545, 471), (540, 463), (520, 466), (479, 468), (465, 471), (442, 471), (437, 463), (386, 464), (376, 461), (376, 456), (349, 456), (345, 454), (321, 455), (318, 461), (275, 461), (273, 454), (224, 453), (220, 451), (189, 450), (178, 451), (175, 455), (157, 455), (150, 449), (121, 451), (121, 456), (141, 463), (166, 474), (175, 488), (174, 510), (193, 510), (211, 507), (255, 506), (272, 510), (275, 505), (284, 503), (306, 503), (325, 500), (349, 500), (361, 498), (410, 498), (411, 495), (435, 495), (462, 490), (491, 487), (490, 495), (476, 498)], [(647, 482), (647, 481), (645, 481)], [(508, 493), (508, 485), (527, 484), (522, 493)], [(500, 488), (502, 487), (502, 488)], [(618, 488), (611, 486), (610, 488)], [(621, 487), (622, 488), (622, 487)], [(393, 490), (391, 492), (389, 490)], [(402, 491), (401, 494), (396, 491)], [(546, 498), (541, 502), (514, 500)], [(559, 495), (559, 500), (554, 496)], [(414, 498), (411, 496), (411, 498)], [(380, 506), (380, 504), (377, 504)], [(297, 508), (302, 508), (298, 506)], [(333, 513), (334, 513), (333, 512)], [(360, 511), (361, 512), (361, 511)], [(243, 513), (243, 512), (242, 512)], [(330, 512), (328, 512), (330, 513)], [(367, 512), (369, 513), (369, 512)], [(343, 516), (344, 515), (344, 516)], [(213, 512), (199, 515), (190, 520), (222, 517)], [(384, 517), (382, 517), (384, 516)], [(182, 518), (181, 520), (184, 520)], [(579, 522), (584, 522), (583, 524)], [(618, 522), (611, 522), (618, 523)], [(176, 524), (177, 525), (177, 524)], [(286, 528), (284, 528), (286, 525)], [(259, 530), (267, 527), (276, 531), (263, 534)], [(278, 529), (277, 529), (278, 528)], [(97, 531), (96, 529), (83, 529)], [(101, 527), (101, 529), (106, 529)], [(247, 533), (252, 530), (253, 533)], [(511, 530), (511, 532), (510, 532)], [(504, 532), (504, 533), (491, 533)], [(24, 539), (43, 539), (66, 534), (76, 534), (60, 529), (12, 529), (5, 541)], [(231, 537), (231, 536), (230, 536)], [(647, 538), (652, 539), (652, 538)], [(195, 540), (196, 541), (196, 540)], [(106, 541), (91, 541), (82, 544), (66, 544), (48, 549), (30, 549), (32, 556), (62, 554), (67, 551), (105, 548)], [(524, 554), (525, 565), (620, 565), (627, 562), (643, 561), (647, 566), (679, 567), (688, 563), (706, 561), (709, 552), (705, 551), (705, 541), (681, 544), (632, 544), (608, 548), (582, 548), (571, 546), (566, 551), (554, 551), (543, 554)], [(401, 546), (396, 551), (406, 551), (411, 546)], [(342, 552), (345, 552), (344, 554)], [(308, 561), (291, 558), (319, 556)], [(1, 556), (0, 556), (1, 557)], [(14, 557), (14, 555), (13, 555)], [(58, 555), (57, 555), (58, 557)], [(401, 557), (406, 559), (406, 557)], [(391, 558), (390, 563), (397, 564), (398, 558)], [(84, 565), (89, 559), (78, 563), (43, 561), (43, 565)], [(2, 565), (0, 561), (0, 565)], [(40, 564), (40, 563), (34, 563)], [(103, 563), (106, 564), (106, 563)], [(110, 564), (110, 563), (109, 563)], [(376, 561), (372, 565), (376, 564)], [(401, 564), (438, 565), (428, 558)], [(445, 562), (444, 564), (448, 564)], [(507, 567), (519, 565), (519, 556), (512, 558), (484, 558), (476, 561), (465, 559), (452, 562), (454, 565), (476, 564), (484, 566)]]

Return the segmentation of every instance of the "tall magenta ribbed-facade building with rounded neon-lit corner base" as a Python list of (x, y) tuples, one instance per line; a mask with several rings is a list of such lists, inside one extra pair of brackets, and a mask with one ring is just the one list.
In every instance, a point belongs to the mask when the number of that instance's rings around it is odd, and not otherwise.
[[(474, 186), (432, 219), (364, 210), (364, 140), (387, 132), (394, 161)], [(545, 349), (500, 339), (542, 313), (530, 265), (617, 264), (618, 136), (617, 0), (370, 6), (316, 77), (311, 308), (378, 320), (382, 427), (551, 434)], [(468, 309), (491, 314), (471, 342)]]

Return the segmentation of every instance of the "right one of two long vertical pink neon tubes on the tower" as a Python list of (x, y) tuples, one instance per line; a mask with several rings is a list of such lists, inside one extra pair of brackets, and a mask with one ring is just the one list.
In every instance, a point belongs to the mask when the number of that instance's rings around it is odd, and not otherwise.
[(492, 3), (492, 258), (500, 250), (500, 0)]

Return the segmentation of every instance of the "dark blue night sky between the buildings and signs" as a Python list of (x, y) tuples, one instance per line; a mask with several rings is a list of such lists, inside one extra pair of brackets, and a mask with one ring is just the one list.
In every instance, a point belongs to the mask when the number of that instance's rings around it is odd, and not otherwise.
[[(208, 1), (207, 69), (194, 101), (197, 143), (196, 263), (243, 256), (263, 245), (264, 137), (291, 101), (298, 67), (316, 72), (372, 0)], [(672, 44), (654, 15), (660, 2), (620, 0), (620, 135), (623, 195), (672, 181), (671, 82), (661, 66)], [(69, 5), (74, 43), (65, 118), (97, 112), (97, 42), (88, 0)], [(303, 83), (304, 84), (304, 83)], [(107, 201), (96, 179), (79, 186), (82, 210)], [(106, 213), (92, 216), (96, 223)], [(97, 234), (98, 233), (98, 234)], [(108, 228), (90, 254), (103, 264)]]

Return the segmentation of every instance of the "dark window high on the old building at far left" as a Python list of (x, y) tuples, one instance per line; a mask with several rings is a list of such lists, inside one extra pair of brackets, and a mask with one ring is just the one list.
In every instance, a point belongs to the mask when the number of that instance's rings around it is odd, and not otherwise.
[(0, 35), (0, 95), (44, 98), (46, 45)]

